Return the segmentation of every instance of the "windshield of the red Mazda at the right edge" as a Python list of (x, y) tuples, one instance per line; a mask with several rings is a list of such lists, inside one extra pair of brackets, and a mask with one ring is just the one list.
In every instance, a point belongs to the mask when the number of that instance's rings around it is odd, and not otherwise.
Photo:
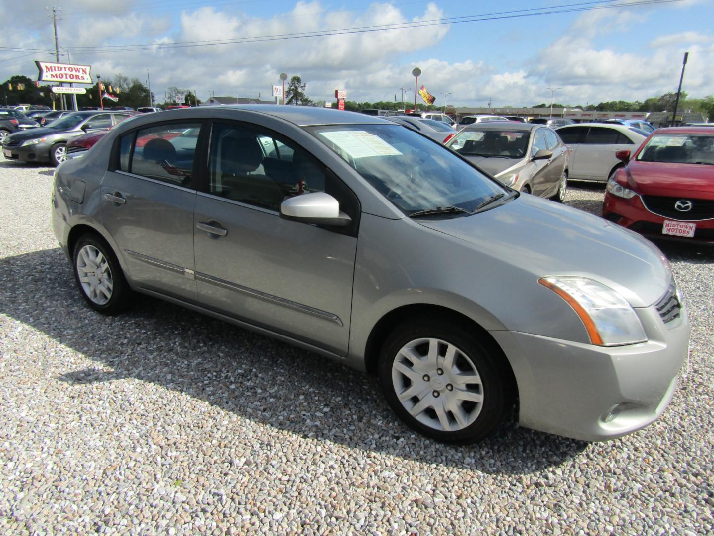
[(637, 159), (639, 162), (714, 165), (714, 134), (655, 134)]

